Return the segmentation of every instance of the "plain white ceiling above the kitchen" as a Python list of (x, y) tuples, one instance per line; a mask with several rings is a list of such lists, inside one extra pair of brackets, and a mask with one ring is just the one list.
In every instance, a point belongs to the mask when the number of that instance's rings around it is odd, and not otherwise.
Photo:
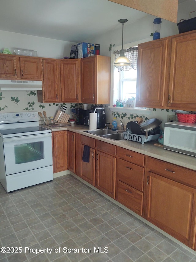
[(0, 0), (0, 30), (75, 43), (147, 15), (107, 0)]

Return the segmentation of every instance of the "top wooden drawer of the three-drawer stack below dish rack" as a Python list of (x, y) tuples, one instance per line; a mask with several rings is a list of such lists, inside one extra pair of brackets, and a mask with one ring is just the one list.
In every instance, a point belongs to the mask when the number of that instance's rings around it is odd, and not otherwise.
[(118, 148), (118, 156), (126, 161), (137, 164), (139, 166), (144, 166), (144, 157), (145, 155), (124, 149), (122, 147)]

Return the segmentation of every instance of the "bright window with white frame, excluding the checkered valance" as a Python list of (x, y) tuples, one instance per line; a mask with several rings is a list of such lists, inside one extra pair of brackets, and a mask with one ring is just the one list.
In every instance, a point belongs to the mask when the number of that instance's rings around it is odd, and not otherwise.
[[(123, 46), (123, 49), (137, 46), (140, 43), (151, 41), (152, 38), (143, 39), (134, 43), (129, 43)], [(137, 69), (131, 68), (129, 71), (120, 71), (113, 66), (115, 61), (115, 54), (113, 51), (120, 50), (122, 46), (116, 46), (111, 51), (111, 106), (116, 104), (116, 100), (120, 99), (126, 101), (128, 98), (136, 97), (136, 82)]]

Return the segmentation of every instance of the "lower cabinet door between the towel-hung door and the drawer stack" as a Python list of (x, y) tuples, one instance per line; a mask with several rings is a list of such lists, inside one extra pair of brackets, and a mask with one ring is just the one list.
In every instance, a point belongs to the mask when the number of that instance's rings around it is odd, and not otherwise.
[(115, 198), (116, 158), (97, 151), (96, 187), (108, 196)]

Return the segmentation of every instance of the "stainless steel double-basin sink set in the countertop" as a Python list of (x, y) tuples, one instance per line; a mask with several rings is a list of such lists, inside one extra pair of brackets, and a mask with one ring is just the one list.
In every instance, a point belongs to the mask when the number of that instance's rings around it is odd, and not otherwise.
[(124, 140), (122, 131), (124, 130), (118, 130), (118, 132), (116, 132), (110, 129), (96, 129), (84, 132), (88, 132), (89, 134), (98, 135), (113, 140)]

